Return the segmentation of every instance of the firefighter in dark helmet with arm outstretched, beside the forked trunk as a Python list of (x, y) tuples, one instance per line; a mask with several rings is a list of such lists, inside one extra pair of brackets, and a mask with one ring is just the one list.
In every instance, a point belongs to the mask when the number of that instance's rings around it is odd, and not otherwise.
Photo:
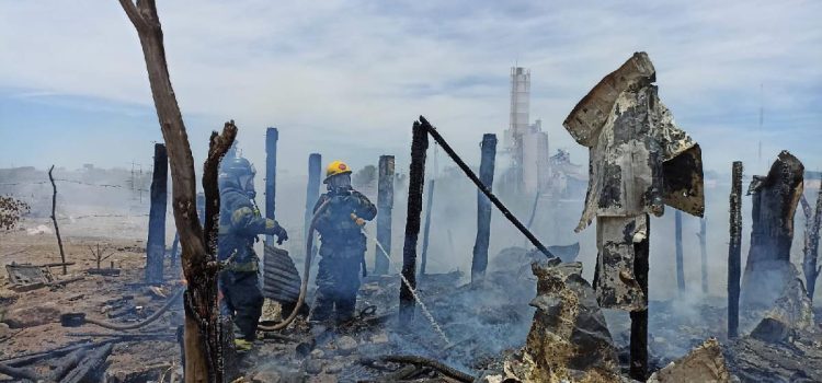
[(259, 283), (259, 260), (254, 253), (258, 235), (276, 235), (277, 243), (288, 233), (276, 221), (263, 218), (254, 197), (254, 167), (240, 156), (226, 156), (218, 176), (220, 189), (218, 259), (224, 264), (219, 275), (220, 312), (233, 317), (240, 329), (238, 350), (251, 348), (262, 314), (263, 295)]

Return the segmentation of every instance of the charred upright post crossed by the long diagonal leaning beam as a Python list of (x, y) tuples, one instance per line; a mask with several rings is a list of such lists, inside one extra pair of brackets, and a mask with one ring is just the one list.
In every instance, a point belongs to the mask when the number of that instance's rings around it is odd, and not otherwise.
[[(486, 134), (480, 143), (480, 181), (489, 190), (494, 182), (494, 162), (496, 160), (496, 135)], [(471, 282), (478, 282), (486, 276), (488, 267), (488, 245), (491, 237), (491, 201), (481, 192), (477, 192), (477, 239), (473, 241), (471, 259)]]

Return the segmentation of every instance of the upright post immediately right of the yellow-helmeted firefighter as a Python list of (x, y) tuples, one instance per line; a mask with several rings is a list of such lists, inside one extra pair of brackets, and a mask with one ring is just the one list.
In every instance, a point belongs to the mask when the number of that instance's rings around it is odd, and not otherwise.
[[(391, 255), (391, 210), (393, 209), (393, 155), (379, 156), (379, 173), (377, 178), (377, 242)], [(377, 245), (374, 245), (374, 274), (388, 274), (388, 259), (383, 256)], [(425, 258), (423, 258), (423, 263)]]

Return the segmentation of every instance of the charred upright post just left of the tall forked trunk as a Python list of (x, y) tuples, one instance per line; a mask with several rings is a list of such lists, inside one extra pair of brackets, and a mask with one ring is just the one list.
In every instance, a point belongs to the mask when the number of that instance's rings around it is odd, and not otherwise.
[[(165, 207), (168, 200), (169, 156), (165, 146), (155, 143), (155, 170), (151, 175), (151, 208), (146, 243), (146, 282), (161, 283), (165, 260)], [(98, 267), (99, 268), (99, 267)]]

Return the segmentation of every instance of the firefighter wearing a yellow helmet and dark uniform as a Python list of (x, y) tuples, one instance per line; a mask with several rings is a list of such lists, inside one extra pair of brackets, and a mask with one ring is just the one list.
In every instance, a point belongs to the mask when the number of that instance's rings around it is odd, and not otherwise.
[(315, 212), (328, 201), (317, 218), (321, 257), (317, 274), (317, 297), (311, 309), (313, 322), (349, 322), (354, 316), (359, 272), (365, 275), (365, 235), (362, 224), (377, 216), (377, 208), (351, 186), (351, 167), (331, 162), (323, 183), (328, 192), (320, 196)]

